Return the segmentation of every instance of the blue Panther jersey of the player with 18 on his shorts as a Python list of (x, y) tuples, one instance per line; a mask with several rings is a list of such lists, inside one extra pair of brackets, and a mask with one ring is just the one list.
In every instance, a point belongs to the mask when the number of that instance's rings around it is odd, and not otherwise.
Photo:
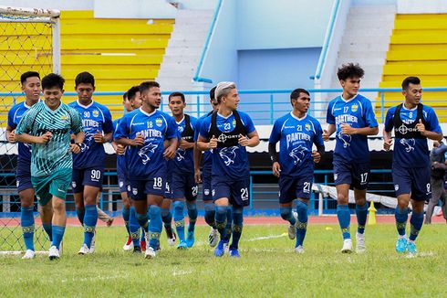
[(147, 180), (160, 171), (166, 172), (166, 162), (163, 157), (164, 140), (177, 137), (177, 124), (174, 119), (158, 110), (148, 113), (140, 108), (129, 112), (121, 118), (114, 138), (135, 139), (137, 134), (142, 134), (144, 144), (128, 146), (126, 149), (129, 178)]

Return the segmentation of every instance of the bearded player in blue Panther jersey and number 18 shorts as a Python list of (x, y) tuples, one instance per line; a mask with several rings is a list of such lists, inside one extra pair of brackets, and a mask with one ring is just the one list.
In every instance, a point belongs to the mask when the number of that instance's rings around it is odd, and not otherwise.
[[(130, 198), (140, 227), (148, 231), (148, 208), (151, 217), (145, 251), (147, 259), (156, 256), (162, 228), (161, 203), (166, 182), (166, 163), (177, 149), (177, 125), (173, 118), (157, 109), (161, 104), (160, 85), (156, 81), (140, 84), (142, 106), (121, 118), (114, 137), (127, 146), (126, 164)], [(164, 141), (169, 140), (165, 149)], [(151, 235), (151, 236), (149, 236)]]

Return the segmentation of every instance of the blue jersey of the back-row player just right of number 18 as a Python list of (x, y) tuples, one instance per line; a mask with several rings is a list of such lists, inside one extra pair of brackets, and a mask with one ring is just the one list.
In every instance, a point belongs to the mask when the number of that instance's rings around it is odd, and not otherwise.
[[(197, 131), (197, 118), (188, 116), (189, 117), (189, 127), (186, 127), (186, 115), (183, 117), (181, 122), (176, 122), (178, 133), (180, 136), (180, 139), (194, 143), (194, 135)], [(175, 157), (173, 159), (173, 166), (175, 167), (175, 170), (181, 173), (188, 173), (193, 174), (194, 173), (194, 149), (187, 149), (184, 150), (182, 148), (178, 148), (177, 152), (175, 153)]]

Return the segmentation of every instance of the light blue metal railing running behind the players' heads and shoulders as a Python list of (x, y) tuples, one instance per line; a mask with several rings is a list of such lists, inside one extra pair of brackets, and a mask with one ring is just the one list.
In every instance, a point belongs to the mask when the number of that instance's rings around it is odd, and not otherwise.
[[(292, 90), (238, 90), (241, 95), (241, 101), (239, 103), (238, 109), (243, 112), (248, 112), (255, 122), (255, 124), (273, 124), (277, 118), (285, 114), (286, 112), (290, 112), (290, 92)], [(341, 89), (309, 89), (311, 93), (311, 98), (314, 98), (317, 93), (326, 94), (327, 99), (322, 101), (311, 101), (311, 109), (309, 110), (309, 114), (316, 117), (321, 122), (326, 122), (326, 111), (327, 104), (329, 99), (337, 96), (342, 92)], [(447, 92), (447, 87), (433, 87), (433, 88), (424, 88), (423, 92)], [(389, 106), (397, 105), (403, 101), (403, 96), (400, 95), (401, 100), (395, 100), (396, 96), (393, 96), (392, 99), (388, 98), (390, 94), (400, 93), (400, 88), (367, 88), (359, 90), (359, 93), (369, 93), (369, 99), (373, 103), (373, 106), (376, 107), (376, 117), (379, 122), (385, 121), (386, 112)], [(164, 99), (167, 98), (171, 91), (162, 91)], [(188, 106), (187, 112), (193, 116), (200, 117), (203, 114), (210, 111), (211, 107), (206, 100), (209, 91), (183, 91), (185, 95), (188, 97)], [(374, 94), (377, 93), (377, 94)], [(101, 91), (95, 92), (94, 98), (99, 99), (99, 102), (103, 96), (122, 96), (123, 92), (120, 91)], [(18, 102), (18, 99), (23, 100), (23, 94), (20, 92), (6, 93), (0, 92), (0, 98), (11, 97), (12, 103)], [(372, 98), (371, 98), (372, 97)], [(423, 95), (422, 95), (423, 98)], [(64, 94), (64, 102), (74, 101), (76, 99), (76, 92), (65, 92)], [(440, 106), (439, 102), (442, 102), (442, 106)], [(440, 97), (439, 99), (427, 100), (423, 101), (424, 104), (431, 105), (435, 104), (438, 107), (435, 109), (437, 111), (445, 111), (447, 110), (447, 95), (445, 97)], [(444, 105), (445, 103), (445, 105)], [(120, 118), (124, 110), (121, 108), (120, 104), (106, 104), (112, 112), (113, 118)], [(0, 113), (0, 115), (5, 116), (9, 106), (5, 106), (5, 110)], [(161, 111), (169, 112), (169, 108), (167, 103), (164, 101), (161, 102)], [(439, 115), (440, 122), (447, 122), (447, 112), (445, 115)]]

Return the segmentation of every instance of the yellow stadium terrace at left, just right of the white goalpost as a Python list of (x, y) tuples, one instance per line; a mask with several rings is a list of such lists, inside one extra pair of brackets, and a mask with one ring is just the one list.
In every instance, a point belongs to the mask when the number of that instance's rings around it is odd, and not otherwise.
[[(76, 75), (89, 71), (95, 76), (97, 91), (124, 91), (158, 76), (175, 20), (95, 18), (93, 11), (63, 11), (60, 21), (65, 89), (74, 90)], [(21, 72), (26, 70), (29, 64), (25, 62)], [(19, 78), (18, 73), (14, 79)], [(68, 97), (65, 102), (74, 99)], [(120, 117), (120, 96), (101, 96), (96, 100), (117, 105), (111, 112), (114, 118)]]

